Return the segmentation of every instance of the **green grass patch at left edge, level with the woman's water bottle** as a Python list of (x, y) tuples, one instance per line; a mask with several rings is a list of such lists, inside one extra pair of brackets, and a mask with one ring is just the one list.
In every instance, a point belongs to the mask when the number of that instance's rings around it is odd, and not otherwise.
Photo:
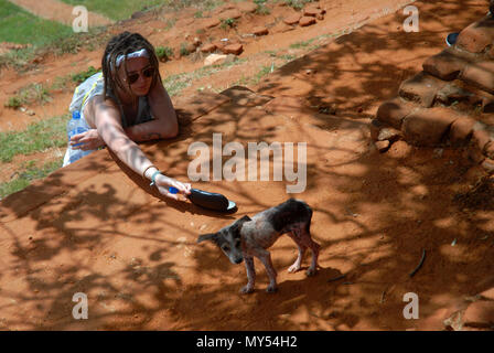
[(0, 132), (0, 161), (10, 162), (18, 154), (31, 154), (67, 145), (68, 114), (28, 126), (24, 131)]

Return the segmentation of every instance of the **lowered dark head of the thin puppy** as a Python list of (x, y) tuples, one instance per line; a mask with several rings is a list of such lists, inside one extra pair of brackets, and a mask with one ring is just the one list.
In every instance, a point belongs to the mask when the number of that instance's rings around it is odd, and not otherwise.
[(225, 253), (232, 264), (240, 264), (244, 260), (240, 231), (244, 223), (248, 221), (251, 221), (250, 217), (244, 216), (216, 233), (200, 235), (197, 243), (211, 240)]

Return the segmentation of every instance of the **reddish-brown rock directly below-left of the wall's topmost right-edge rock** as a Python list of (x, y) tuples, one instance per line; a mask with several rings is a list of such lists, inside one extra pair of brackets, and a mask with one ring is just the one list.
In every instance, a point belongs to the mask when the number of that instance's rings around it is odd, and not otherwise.
[(441, 53), (430, 56), (422, 64), (423, 71), (444, 81), (453, 81), (461, 71), (471, 62), (473, 56), (468, 60), (457, 50), (448, 47)]

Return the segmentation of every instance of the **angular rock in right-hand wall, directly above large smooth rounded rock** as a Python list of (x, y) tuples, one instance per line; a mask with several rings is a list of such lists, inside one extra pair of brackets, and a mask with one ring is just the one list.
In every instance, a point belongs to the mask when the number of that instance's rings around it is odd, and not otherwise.
[(436, 94), (445, 85), (441, 79), (425, 72), (401, 83), (399, 96), (416, 101), (422, 107), (429, 108), (434, 101)]

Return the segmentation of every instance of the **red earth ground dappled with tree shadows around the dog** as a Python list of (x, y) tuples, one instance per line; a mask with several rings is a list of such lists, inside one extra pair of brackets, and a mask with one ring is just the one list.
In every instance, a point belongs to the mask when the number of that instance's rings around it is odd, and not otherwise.
[[(228, 100), (196, 93), (197, 86), (184, 90), (174, 99), (180, 137), (142, 145), (161, 170), (185, 181), (189, 146), (212, 146), (214, 132), (222, 132), (224, 143), (243, 146), (307, 142), (308, 184), (293, 196), (314, 211), (311, 232), (322, 245), (318, 275), (287, 272), (297, 249), (281, 237), (271, 248), (279, 291), (265, 292), (266, 272), (256, 260), (257, 290), (241, 296), (244, 266), (229, 264), (211, 244), (196, 244), (198, 234), (284, 201), (290, 182), (194, 183), (237, 203), (236, 214), (218, 215), (163, 200), (104, 150), (1, 202), (0, 328), (443, 330), (445, 319), (493, 288), (493, 193), (488, 185), (471, 188), (475, 175), (462, 151), (396, 142), (379, 154), (368, 131), (379, 104), (444, 47), (449, 32), (484, 15), (485, 1), (417, 1), (418, 33), (402, 30), (406, 17), (394, 11), (404, 4), (398, 1), (321, 3), (327, 9), (322, 23), (260, 39), (241, 55), (251, 58), (276, 45), (365, 25), (273, 72), (250, 87), (257, 95)], [(373, 18), (385, 8), (390, 14)], [(77, 58), (86, 66), (99, 55)], [(75, 60), (49, 56), (26, 76), (2, 72), (0, 98), (34, 78), (71, 73)], [(163, 66), (164, 73), (176, 73), (198, 65), (181, 60)], [(248, 67), (205, 81), (221, 87), (225, 75), (240, 77), (238, 72)], [(61, 93), (57, 103), (33, 107), (45, 110), (36, 110), (34, 119), (64, 113), (71, 95)], [(264, 105), (260, 95), (275, 99)], [(335, 107), (335, 115), (318, 111), (323, 106)], [(0, 116), (3, 129), (11, 120), (6, 115)], [(12, 128), (28, 120), (18, 117)], [(410, 277), (423, 250), (425, 261)], [(88, 296), (88, 320), (72, 317), (76, 292)], [(404, 318), (408, 292), (419, 297), (418, 320)]]

